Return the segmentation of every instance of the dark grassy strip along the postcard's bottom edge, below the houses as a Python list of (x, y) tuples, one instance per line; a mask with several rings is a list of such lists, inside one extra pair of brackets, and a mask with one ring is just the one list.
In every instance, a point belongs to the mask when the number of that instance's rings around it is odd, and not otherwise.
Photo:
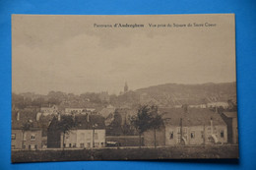
[(237, 145), (171, 146), (158, 148), (113, 147), (73, 150), (16, 150), (12, 162), (76, 160), (145, 160), (145, 159), (215, 159), (238, 158)]

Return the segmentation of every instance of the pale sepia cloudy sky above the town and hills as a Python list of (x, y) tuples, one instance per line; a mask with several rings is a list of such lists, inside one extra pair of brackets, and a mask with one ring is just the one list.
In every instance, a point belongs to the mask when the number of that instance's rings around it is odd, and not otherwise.
[[(235, 82), (234, 18), (192, 16), (12, 17), (12, 90), (119, 93), (151, 85)], [(94, 28), (143, 24), (144, 28)], [(216, 27), (150, 28), (149, 24)]]

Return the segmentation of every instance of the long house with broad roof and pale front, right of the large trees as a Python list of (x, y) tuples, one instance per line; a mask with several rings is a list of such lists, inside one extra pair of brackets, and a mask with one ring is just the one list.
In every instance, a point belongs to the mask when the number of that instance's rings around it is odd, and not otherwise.
[[(160, 109), (164, 126), (157, 131), (158, 145), (227, 142), (227, 127), (219, 113), (206, 108)], [(154, 132), (144, 133), (145, 145), (154, 145)]]

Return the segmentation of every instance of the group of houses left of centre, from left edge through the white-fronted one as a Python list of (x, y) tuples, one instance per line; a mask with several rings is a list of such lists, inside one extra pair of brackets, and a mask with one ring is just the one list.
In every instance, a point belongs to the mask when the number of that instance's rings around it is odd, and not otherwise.
[(100, 115), (73, 116), (74, 126), (65, 134), (60, 129), (61, 119), (60, 115), (54, 115), (43, 129), (34, 114), (14, 113), (12, 149), (105, 146), (104, 119)]

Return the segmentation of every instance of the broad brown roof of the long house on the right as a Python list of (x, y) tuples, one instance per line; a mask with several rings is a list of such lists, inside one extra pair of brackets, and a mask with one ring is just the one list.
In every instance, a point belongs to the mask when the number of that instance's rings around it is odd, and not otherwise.
[(211, 119), (214, 125), (226, 125), (219, 113), (207, 108), (188, 108), (187, 112), (183, 108), (164, 108), (159, 111), (164, 122), (173, 126), (180, 126), (181, 119), (183, 126), (210, 126)]

